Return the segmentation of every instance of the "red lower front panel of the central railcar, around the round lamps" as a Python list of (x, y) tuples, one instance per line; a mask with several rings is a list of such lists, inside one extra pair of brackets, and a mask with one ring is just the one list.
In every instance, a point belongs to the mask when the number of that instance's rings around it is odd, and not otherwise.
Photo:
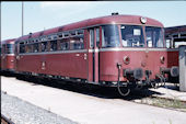
[[(146, 50), (140, 52), (136, 48), (135, 52), (101, 52), (100, 56), (100, 79), (105, 81), (117, 81), (117, 63), (121, 64), (121, 69), (142, 68), (143, 70), (151, 70), (150, 79), (154, 79), (155, 75), (160, 74), (160, 67), (166, 67), (166, 60), (164, 64), (160, 61), (161, 56), (166, 59), (166, 52), (146, 53)], [(130, 64), (124, 64), (124, 56), (130, 58)], [(143, 67), (142, 64), (146, 66)], [(123, 71), (120, 72), (120, 80), (126, 81), (123, 77)]]

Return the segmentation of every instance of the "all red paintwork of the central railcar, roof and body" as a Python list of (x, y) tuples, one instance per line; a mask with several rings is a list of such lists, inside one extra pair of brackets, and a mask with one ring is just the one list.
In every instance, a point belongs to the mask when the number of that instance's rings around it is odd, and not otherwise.
[[(81, 29), (86, 26), (100, 25), (100, 24), (112, 24), (121, 23), (121, 24), (140, 24), (140, 18), (137, 15), (109, 15), (96, 19), (90, 19), (65, 26), (59, 26), (37, 33), (33, 33), (31, 37), (37, 37), (40, 35), (48, 35), (61, 31), (69, 31), (74, 29)], [(163, 24), (153, 20), (148, 19), (147, 24), (163, 27)], [(102, 30), (100, 27), (100, 30)], [(84, 30), (84, 44), (85, 49), (91, 49), (90, 46), (90, 35), (88, 30)], [(100, 31), (100, 36), (102, 36)], [(21, 40), (26, 40), (27, 36), (20, 37)], [(18, 42), (19, 42), (18, 41)], [(102, 43), (102, 40), (101, 40)], [(94, 46), (96, 48), (96, 46)], [(151, 48), (149, 48), (151, 49)], [(80, 56), (75, 56), (79, 54)], [(86, 59), (84, 59), (84, 54), (86, 54)], [(130, 57), (130, 64), (125, 65), (123, 61), (124, 56)], [(160, 57), (165, 57), (165, 63), (161, 64)], [(125, 52), (100, 52), (95, 53), (95, 68), (94, 76), (95, 82), (98, 81), (117, 81), (118, 70), (117, 63), (121, 64), (121, 69), (125, 68), (142, 68), (152, 71), (151, 79), (155, 78), (156, 74), (160, 74), (160, 67), (167, 67), (167, 53), (163, 52), (153, 52), (153, 50), (125, 50)], [(45, 63), (45, 67), (42, 67), (42, 64)], [(146, 64), (146, 67), (141, 66), (141, 63)], [(43, 69), (42, 69), (43, 68)], [(66, 76), (72, 78), (82, 78), (88, 79), (88, 81), (93, 81), (93, 53), (66, 53), (66, 54), (45, 54), (45, 55), (20, 55), (20, 58), (16, 59), (16, 70), (18, 71), (28, 71), (35, 74), (46, 74), (46, 75), (56, 75), (56, 76)], [(143, 77), (144, 79), (144, 77)], [(126, 81), (123, 77), (123, 71), (120, 72), (120, 81)]]

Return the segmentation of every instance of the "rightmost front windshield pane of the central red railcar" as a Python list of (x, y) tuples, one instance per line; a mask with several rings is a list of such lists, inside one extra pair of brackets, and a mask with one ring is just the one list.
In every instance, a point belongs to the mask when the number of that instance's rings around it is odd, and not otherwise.
[(161, 27), (146, 26), (148, 47), (164, 47), (163, 30)]

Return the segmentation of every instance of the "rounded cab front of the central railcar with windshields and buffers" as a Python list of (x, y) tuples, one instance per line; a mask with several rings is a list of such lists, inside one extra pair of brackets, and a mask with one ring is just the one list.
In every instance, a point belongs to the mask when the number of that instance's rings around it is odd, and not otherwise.
[[(109, 86), (142, 88), (165, 81), (167, 68), (163, 24), (149, 18), (120, 16), (102, 26), (100, 80)], [(125, 19), (128, 18), (128, 19)]]

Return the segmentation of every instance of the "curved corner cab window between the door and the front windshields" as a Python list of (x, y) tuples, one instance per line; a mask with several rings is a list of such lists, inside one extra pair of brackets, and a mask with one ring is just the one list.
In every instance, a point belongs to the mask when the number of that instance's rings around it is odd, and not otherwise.
[(102, 47), (117, 47), (119, 45), (118, 26), (115, 24), (102, 26)]

